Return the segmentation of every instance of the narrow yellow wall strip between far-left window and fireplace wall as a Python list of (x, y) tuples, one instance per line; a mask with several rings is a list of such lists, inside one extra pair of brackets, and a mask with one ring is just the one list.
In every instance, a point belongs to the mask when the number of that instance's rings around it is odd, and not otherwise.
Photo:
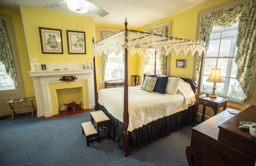
[(2, 9), (2, 8), (0, 8), (0, 13), (11, 16), (12, 27), (15, 35), (16, 44), (17, 44), (21, 73), (24, 80), (26, 96), (33, 97), (35, 96), (35, 92), (33, 88), (32, 78), (28, 74), (28, 71), (30, 71), (30, 64), (29, 64), (28, 50), (27, 50), (27, 44), (26, 44), (21, 14), (19, 11), (12, 11), (12, 10)]

